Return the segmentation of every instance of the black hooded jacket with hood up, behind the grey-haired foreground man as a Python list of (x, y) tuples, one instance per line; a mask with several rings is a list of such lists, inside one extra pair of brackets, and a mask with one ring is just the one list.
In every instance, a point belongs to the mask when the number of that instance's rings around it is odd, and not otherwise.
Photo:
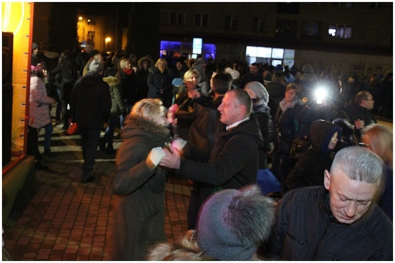
[(330, 170), (334, 152), (328, 150), (329, 142), (337, 132), (342, 137), (341, 128), (330, 121), (316, 120), (311, 127), (312, 146), (303, 152), (286, 180), (288, 189), (308, 186), (323, 186), (324, 171)]

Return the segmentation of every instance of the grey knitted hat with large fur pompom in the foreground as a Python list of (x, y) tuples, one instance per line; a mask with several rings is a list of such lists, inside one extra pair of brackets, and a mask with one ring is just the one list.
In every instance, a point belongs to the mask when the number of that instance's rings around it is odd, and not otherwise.
[(251, 260), (270, 236), (273, 219), (273, 201), (257, 185), (216, 192), (200, 208), (200, 251), (217, 260)]

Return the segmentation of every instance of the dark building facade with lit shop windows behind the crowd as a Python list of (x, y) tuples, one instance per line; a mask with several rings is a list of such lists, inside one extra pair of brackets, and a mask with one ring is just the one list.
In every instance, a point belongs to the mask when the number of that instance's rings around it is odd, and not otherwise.
[(162, 57), (267, 62), (364, 74), (393, 68), (393, 2), (163, 2)]

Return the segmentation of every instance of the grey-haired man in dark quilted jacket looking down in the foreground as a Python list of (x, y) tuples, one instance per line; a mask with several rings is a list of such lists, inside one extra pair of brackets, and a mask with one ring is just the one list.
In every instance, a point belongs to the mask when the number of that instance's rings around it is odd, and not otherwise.
[(324, 186), (289, 190), (276, 206), (270, 249), (284, 261), (393, 261), (393, 225), (373, 201), (383, 162), (359, 146), (337, 152)]

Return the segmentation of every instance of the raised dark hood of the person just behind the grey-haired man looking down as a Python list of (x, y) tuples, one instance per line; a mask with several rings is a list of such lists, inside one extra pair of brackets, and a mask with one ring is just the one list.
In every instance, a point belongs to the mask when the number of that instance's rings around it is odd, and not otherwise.
[(314, 149), (323, 153), (328, 153), (329, 142), (337, 132), (337, 139), (340, 141), (342, 137), (342, 128), (340, 126), (327, 121), (327, 120), (315, 120), (310, 128), (310, 137), (312, 140), (312, 146)]

